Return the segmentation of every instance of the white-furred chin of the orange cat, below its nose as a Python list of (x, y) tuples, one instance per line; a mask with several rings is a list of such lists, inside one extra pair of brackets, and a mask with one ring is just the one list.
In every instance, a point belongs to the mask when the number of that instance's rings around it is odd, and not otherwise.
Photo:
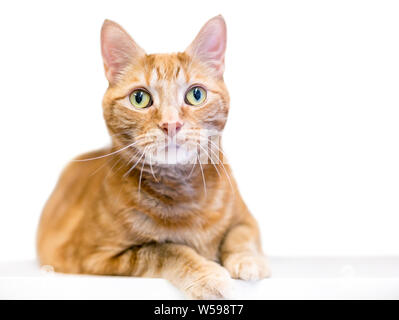
[(196, 161), (197, 152), (178, 145), (168, 145), (151, 156), (152, 165), (184, 165)]

